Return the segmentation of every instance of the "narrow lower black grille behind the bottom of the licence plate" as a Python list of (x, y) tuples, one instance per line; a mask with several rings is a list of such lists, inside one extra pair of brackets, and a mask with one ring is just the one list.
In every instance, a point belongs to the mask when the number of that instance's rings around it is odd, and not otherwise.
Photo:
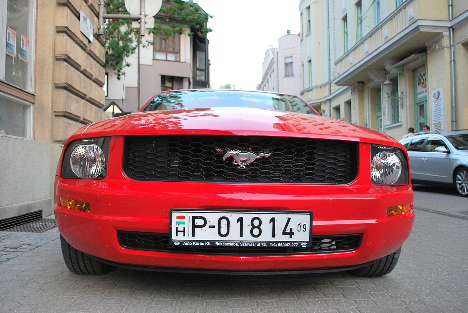
[(169, 244), (167, 233), (139, 233), (117, 231), (120, 245), (124, 248), (158, 252), (196, 253), (203, 255), (283, 255), (312, 254), (352, 251), (359, 247), (362, 234), (312, 236), (313, 246), (291, 247), (174, 247)]

